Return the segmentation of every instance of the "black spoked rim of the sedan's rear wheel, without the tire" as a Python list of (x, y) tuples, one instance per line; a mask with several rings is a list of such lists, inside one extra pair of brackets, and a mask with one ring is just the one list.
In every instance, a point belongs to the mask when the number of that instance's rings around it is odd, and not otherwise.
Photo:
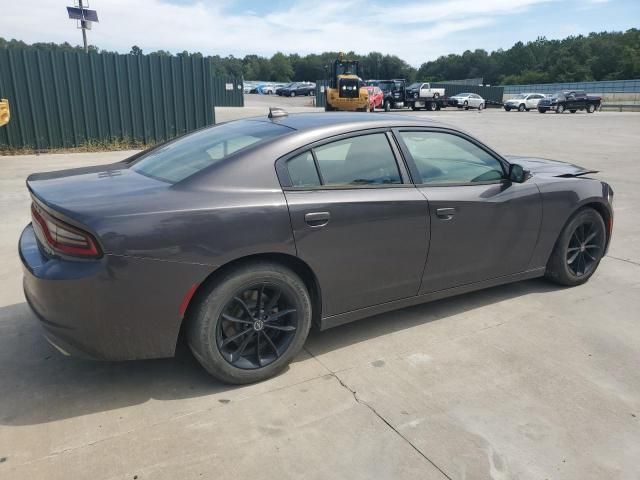
[(298, 309), (285, 289), (272, 283), (243, 288), (227, 302), (216, 327), (216, 345), (237, 368), (266, 367), (289, 348)]

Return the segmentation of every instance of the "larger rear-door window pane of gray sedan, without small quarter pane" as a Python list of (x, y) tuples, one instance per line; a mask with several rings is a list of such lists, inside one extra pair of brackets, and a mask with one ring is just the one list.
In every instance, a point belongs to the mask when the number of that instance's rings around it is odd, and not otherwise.
[(324, 185), (386, 185), (402, 183), (393, 151), (384, 133), (339, 140), (315, 148)]

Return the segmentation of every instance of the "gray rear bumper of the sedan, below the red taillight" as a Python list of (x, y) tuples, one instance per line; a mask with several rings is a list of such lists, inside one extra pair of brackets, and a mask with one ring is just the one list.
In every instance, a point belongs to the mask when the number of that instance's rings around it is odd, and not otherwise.
[(176, 262), (48, 257), (31, 225), (19, 252), (25, 298), (47, 339), (65, 354), (98, 360), (172, 356), (185, 293), (207, 275)]

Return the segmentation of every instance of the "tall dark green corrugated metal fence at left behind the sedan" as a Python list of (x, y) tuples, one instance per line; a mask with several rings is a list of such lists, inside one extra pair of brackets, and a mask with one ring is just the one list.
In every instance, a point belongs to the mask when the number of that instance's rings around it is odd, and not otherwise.
[(0, 150), (149, 144), (243, 104), (241, 82), (213, 77), (207, 58), (19, 49), (0, 49), (0, 98), (11, 106)]

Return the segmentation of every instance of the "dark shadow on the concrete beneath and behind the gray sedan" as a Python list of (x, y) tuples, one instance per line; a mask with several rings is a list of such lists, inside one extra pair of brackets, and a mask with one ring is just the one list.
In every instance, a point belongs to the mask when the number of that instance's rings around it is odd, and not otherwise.
[[(308, 350), (320, 355), (494, 302), (554, 289), (542, 280), (530, 280), (312, 331)], [(301, 357), (298, 361), (305, 360)], [(0, 307), (0, 385), (0, 425), (36, 425), (150, 399), (179, 400), (241, 388), (209, 377), (184, 342), (170, 359), (92, 362), (65, 357), (44, 340), (25, 303)]]

